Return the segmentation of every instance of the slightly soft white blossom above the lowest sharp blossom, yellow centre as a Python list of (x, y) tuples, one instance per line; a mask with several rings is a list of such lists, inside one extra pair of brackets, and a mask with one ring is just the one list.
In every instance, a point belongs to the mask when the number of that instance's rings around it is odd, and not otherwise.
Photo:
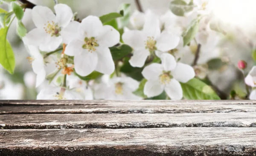
[(134, 49), (129, 60), (131, 66), (142, 67), (146, 58), (155, 51), (169, 51), (174, 49), (180, 38), (167, 32), (161, 33), (159, 20), (153, 13), (148, 13), (143, 31), (131, 30), (122, 35), (124, 43)]

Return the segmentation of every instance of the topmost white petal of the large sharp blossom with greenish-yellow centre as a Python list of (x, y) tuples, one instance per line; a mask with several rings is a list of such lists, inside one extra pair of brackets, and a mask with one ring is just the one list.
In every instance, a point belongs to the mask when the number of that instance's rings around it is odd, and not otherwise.
[(79, 26), (79, 32), (83, 36), (87, 37), (97, 37), (102, 32), (103, 25), (96, 16), (87, 16), (84, 18)]

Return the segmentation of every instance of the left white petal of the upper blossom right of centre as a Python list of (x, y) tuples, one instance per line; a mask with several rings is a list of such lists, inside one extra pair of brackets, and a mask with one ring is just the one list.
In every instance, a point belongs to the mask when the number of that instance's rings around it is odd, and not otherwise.
[(141, 31), (131, 30), (131, 31), (125, 32), (122, 35), (122, 40), (124, 41), (125, 44), (128, 44), (134, 49), (145, 48), (146, 36)]

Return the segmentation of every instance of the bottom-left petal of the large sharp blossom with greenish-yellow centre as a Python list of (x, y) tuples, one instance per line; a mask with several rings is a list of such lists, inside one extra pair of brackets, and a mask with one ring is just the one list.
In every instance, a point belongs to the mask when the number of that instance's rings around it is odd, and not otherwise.
[(74, 58), (76, 72), (81, 76), (87, 76), (96, 69), (98, 56), (96, 52), (84, 50)]

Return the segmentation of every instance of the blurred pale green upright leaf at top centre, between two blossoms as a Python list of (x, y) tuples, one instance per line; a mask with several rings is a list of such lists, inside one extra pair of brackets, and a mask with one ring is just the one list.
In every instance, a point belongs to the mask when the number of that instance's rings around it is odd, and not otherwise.
[(124, 28), (129, 24), (130, 16), (131, 16), (131, 4), (124, 3), (119, 6), (120, 14), (123, 17), (118, 19), (119, 28)]

